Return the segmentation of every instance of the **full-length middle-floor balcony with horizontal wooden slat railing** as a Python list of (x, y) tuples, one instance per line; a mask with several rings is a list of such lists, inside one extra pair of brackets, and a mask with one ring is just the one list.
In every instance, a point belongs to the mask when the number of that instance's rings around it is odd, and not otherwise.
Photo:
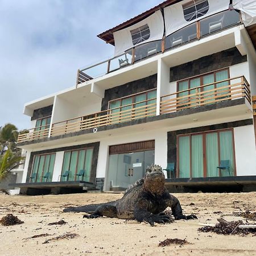
[[(159, 125), (163, 126), (163, 124), (161, 125), (162, 119), (168, 119), (170, 121), (173, 119), (174, 121), (172, 123), (176, 123), (176, 116), (179, 114), (184, 115), (185, 112), (184, 117), (189, 114), (189, 112), (185, 110), (197, 109), (198, 111), (193, 111), (193, 113), (197, 113), (203, 111), (200, 107), (205, 105), (210, 106), (212, 104), (217, 104), (218, 102), (221, 102), (223, 105), (223, 103), (226, 102), (227, 104), (224, 104), (224, 106), (222, 106), (223, 108), (225, 106), (232, 106), (233, 104), (231, 102), (238, 99), (246, 99), (246, 102), (249, 104), (245, 104), (247, 106), (246, 108), (242, 108), (241, 113), (244, 113), (244, 109), (246, 111), (251, 109), (250, 85), (244, 76), (225, 79), (164, 95), (160, 97), (160, 115), (158, 114), (158, 118), (148, 119), (145, 122), (158, 120), (160, 121)], [(244, 103), (245, 101), (243, 101), (243, 105)], [(239, 104), (242, 103), (240, 102)], [(27, 130), (26, 133), (20, 133), (18, 143), (36, 141), (43, 138), (75, 133), (88, 129), (92, 129), (93, 132), (96, 132), (101, 126), (110, 126), (125, 122), (126, 126), (129, 126), (129, 122), (135, 119), (155, 117), (157, 115), (156, 106), (156, 98), (151, 98), (133, 104), (118, 106), (117, 108), (104, 110), (102, 112), (53, 123), (50, 130), (49, 125), (36, 127)], [(185, 112), (183, 112), (183, 110)], [(225, 110), (221, 111), (225, 115)], [(236, 111), (240, 110), (233, 109), (233, 115), (236, 115)], [(165, 115), (174, 112), (178, 115)], [(228, 113), (229, 112), (226, 112), (226, 115), (229, 115)], [(186, 119), (184, 119), (183, 122), (186, 122), (185, 120)], [(170, 124), (168, 124), (168, 126), (170, 126)]]

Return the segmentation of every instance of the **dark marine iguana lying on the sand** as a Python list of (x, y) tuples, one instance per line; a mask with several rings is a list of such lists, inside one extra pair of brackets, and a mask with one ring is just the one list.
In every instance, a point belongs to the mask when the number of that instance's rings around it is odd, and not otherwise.
[(171, 221), (170, 217), (163, 213), (167, 207), (171, 207), (175, 220), (197, 218), (194, 214), (185, 216), (182, 213), (179, 200), (170, 195), (164, 187), (164, 180), (162, 168), (151, 164), (146, 175), (126, 189), (121, 199), (103, 204), (69, 207), (63, 212), (91, 213), (89, 216), (84, 215), (84, 218), (106, 216), (135, 219), (148, 222), (151, 226), (154, 226), (154, 222), (164, 224)]

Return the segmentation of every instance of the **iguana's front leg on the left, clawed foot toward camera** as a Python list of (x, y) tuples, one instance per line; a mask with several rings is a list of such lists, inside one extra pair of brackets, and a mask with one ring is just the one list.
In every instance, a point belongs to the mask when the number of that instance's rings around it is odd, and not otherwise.
[(148, 222), (151, 226), (154, 226), (154, 223), (165, 224), (166, 222), (170, 223), (170, 217), (166, 214), (152, 214), (148, 211), (148, 203), (147, 201), (139, 201), (134, 207), (134, 218), (135, 220), (142, 222)]

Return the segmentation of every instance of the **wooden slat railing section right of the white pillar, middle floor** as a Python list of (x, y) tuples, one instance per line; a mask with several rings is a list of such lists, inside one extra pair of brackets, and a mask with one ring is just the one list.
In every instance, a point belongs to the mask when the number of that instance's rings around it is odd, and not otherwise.
[[(208, 86), (214, 86), (214, 89), (208, 89)], [(250, 85), (244, 76), (225, 79), (162, 96), (160, 98), (160, 114), (242, 97), (251, 103)]]

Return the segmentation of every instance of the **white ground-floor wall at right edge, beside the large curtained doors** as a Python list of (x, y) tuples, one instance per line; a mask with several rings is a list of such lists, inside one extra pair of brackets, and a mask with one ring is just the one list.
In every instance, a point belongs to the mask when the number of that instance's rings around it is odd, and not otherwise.
[(237, 176), (256, 175), (256, 149), (253, 125), (234, 127)]

